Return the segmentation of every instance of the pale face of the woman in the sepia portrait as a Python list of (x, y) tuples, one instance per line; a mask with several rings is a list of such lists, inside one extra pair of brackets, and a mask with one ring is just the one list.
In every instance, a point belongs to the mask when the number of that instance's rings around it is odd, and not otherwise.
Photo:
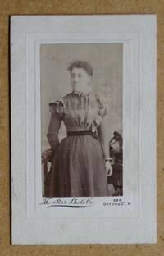
[(83, 91), (89, 87), (91, 76), (83, 69), (74, 67), (71, 70), (71, 85), (73, 90)]

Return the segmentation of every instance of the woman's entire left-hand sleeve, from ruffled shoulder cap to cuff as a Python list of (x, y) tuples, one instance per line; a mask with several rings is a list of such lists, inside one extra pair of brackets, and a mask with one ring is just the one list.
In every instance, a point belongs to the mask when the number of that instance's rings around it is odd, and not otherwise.
[(64, 116), (64, 102), (62, 99), (49, 103), (49, 111), (51, 112), (51, 117), (48, 126), (48, 142), (52, 148), (52, 153), (57, 149), (59, 144), (58, 131), (60, 129), (62, 118)]

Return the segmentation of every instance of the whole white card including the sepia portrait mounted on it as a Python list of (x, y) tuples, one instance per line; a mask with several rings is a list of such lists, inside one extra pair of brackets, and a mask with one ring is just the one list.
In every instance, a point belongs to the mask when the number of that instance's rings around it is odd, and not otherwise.
[(12, 244), (157, 242), (156, 36), (155, 15), (11, 16)]

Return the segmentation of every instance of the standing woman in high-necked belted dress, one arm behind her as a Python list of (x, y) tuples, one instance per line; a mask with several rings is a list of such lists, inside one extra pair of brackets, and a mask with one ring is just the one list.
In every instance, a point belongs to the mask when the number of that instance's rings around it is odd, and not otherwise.
[[(53, 158), (44, 196), (107, 196), (106, 172), (112, 168), (105, 132), (105, 103), (92, 92), (93, 69), (88, 62), (73, 62), (68, 70), (71, 94), (50, 103), (48, 142)], [(67, 137), (59, 144), (62, 121)]]

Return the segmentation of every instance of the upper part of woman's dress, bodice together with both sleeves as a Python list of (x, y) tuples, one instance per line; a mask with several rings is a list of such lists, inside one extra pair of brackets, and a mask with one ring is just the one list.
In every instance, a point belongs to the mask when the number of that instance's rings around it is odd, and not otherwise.
[(106, 103), (101, 96), (72, 92), (49, 106), (51, 119), (47, 136), (52, 151), (55, 151), (59, 144), (58, 131), (63, 121), (67, 131), (91, 130), (96, 133), (103, 145), (104, 155), (108, 158)]

